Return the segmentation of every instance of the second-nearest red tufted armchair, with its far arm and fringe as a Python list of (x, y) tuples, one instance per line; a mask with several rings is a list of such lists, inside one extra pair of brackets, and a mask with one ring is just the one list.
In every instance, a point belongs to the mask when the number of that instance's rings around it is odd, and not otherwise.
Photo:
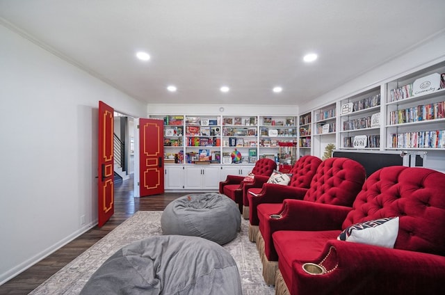
[(305, 199), (350, 206), (357, 193), (362, 189), (365, 177), (364, 167), (357, 161), (346, 158), (330, 158), (321, 162), (316, 168), (316, 174), (311, 177), (309, 190), (298, 186), (289, 188), (279, 185), (264, 185), (264, 191), (257, 196), (248, 193), (250, 241), (257, 239), (260, 225), (257, 207), (260, 204), (274, 203), (275, 207), (270, 205), (273, 211), (280, 208), (280, 204), (285, 199)]

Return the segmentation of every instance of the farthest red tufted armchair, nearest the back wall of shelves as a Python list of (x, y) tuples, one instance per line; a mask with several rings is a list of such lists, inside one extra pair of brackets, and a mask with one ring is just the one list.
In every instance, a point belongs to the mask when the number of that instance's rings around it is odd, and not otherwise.
[[(252, 172), (257, 179), (257, 182), (262, 179), (268, 180), (270, 175), (273, 173), (273, 170), (277, 168), (277, 164), (272, 159), (261, 158), (256, 163)], [(245, 184), (254, 185), (256, 182), (244, 182), (245, 176), (241, 175), (227, 175), (227, 178), (224, 182), (220, 182), (219, 192), (225, 194), (227, 197), (234, 200), (239, 207), (240, 213), (243, 212), (243, 187)], [(259, 185), (259, 184), (257, 184)], [(261, 183), (262, 185), (262, 183)]]

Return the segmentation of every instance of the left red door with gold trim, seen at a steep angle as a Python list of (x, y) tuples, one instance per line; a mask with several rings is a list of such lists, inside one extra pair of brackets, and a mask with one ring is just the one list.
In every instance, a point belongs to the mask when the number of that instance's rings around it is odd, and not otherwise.
[(114, 213), (113, 117), (114, 109), (104, 102), (99, 102), (99, 131), (97, 132), (99, 136), (97, 141), (99, 227), (102, 227)]

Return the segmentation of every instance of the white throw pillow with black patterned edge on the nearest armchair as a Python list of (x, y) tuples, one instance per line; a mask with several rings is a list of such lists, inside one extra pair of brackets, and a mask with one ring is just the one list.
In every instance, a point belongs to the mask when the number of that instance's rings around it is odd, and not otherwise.
[(355, 223), (337, 237), (341, 241), (394, 248), (398, 234), (398, 217), (379, 218)]

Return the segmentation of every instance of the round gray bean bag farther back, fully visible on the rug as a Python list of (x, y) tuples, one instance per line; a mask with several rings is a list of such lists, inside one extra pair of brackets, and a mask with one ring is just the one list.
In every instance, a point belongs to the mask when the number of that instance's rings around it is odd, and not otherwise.
[(163, 234), (202, 237), (220, 245), (241, 226), (238, 205), (220, 193), (192, 193), (170, 202), (161, 216)]

